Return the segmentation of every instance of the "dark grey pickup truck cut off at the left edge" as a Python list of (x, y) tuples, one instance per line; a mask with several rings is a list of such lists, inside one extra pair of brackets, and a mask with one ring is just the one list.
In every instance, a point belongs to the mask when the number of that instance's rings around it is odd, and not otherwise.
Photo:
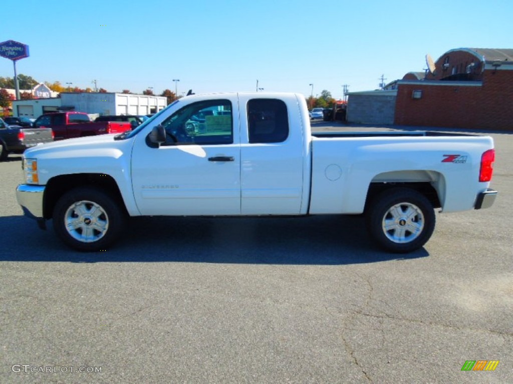
[(9, 125), (0, 119), (0, 161), (9, 153), (23, 153), (27, 148), (53, 141), (51, 129), (34, 129), (19, 125)]

